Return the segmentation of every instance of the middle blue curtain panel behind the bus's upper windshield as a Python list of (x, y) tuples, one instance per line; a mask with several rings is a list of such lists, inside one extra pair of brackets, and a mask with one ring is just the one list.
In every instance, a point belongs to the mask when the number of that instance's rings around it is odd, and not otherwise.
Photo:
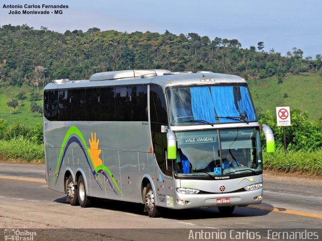
[[(232, 86), (212, 86), (212, 101), (215, 106), (217, 116), (239, 116), (235, 105)], [(219, 118), (220, 122), (234, 122), (238, 119)]]

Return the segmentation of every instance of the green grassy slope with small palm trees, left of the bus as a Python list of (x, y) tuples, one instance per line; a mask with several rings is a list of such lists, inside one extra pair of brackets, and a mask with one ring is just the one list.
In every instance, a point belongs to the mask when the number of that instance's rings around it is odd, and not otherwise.
[[(34, 92), (37, 89), (34, 88)], [(21, 101), (18, 100), (18, 107), (16, 110), (12, 108), (10, 114), (10, 108), (7, 102), (11, 99), (17, 99), (17, 95), (21, 92), (26, 94), (28, 99)], [(8, 124), (11, 125), (15, 122), (23, 124), (25, 126), (34, 126), (38, 122), (42, 122), (42, 116), (38, 116), (37, 113), (33, 114), (30, 111), (30, 93), (32, 92), (32, 87), (24, 84), (22, 87), (18, 86), (7, 86), (6, 83), (0, 85), (0, 119), (6, 119)], [(43, 88), (39, 88), (39, 93), (43, 92)], [(38, 105), (42, 106), (42, 100), (37, 101)], [(21, 105), (20, 105), (21, 104)]]

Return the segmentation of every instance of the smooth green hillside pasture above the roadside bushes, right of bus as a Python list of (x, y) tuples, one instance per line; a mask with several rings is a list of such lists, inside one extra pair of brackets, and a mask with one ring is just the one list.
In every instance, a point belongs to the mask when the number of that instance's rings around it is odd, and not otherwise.
[[(309, 113), (309, 120), (322, 116), (322, 77), (318, 74), (289, 75), (278, 84), (277, 77), (247, 81), (259, 114), (270, 110), (276, 115), (276, 107), (289, 106)], [(284, 98), (284, 93), (287, 98)]]

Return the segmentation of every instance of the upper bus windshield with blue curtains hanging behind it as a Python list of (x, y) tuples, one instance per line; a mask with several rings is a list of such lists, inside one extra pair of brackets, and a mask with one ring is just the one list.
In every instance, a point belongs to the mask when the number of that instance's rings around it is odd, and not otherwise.
[(246, 85), (169, 88), (167, 96), (171, 125), (257, 120)]

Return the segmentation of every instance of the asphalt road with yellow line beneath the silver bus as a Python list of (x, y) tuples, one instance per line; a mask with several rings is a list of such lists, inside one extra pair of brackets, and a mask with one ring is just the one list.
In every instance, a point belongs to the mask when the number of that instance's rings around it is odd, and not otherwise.
[[(142, 204), (121, 201), (106, 200), (91, 208), (70, 206), (64, 194), (47, 189), (44, 179), (42, 165), (0, 164), (0, 228), (49, 228), (45, 230), (54, 237), (48, 240), (66, 240), (68, 234), (68, 240), (179, 241), (189, 239), (190, 230), (214, 230), (219, 235), (226, 228), (229, 233), (238, 228), (267, 232), (322, 227), (322, 186), (314, 179), (264, 179), (262, 204), (236, 207), (230, 217), (222, 217), (217, 208), (203, 208), (168, 210), (161, 218), (147, 217)], [(239, 240), (252, 239), (245, 237)]]

